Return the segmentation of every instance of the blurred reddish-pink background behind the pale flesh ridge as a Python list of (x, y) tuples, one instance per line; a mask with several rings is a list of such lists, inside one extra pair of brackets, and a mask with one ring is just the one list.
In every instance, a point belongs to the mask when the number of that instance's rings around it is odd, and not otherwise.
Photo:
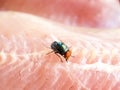
[(17, 11), (66, 25), (119, 28), (119, 0), (0, 0), (1, 11)]

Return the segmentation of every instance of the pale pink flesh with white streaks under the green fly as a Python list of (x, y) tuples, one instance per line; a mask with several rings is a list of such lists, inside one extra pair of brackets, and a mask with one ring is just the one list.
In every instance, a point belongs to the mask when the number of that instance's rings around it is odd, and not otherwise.
[[(0, 20), (1, 90), (119, 90), (119, 37), (113, 41), (97, 30), (97, 36), (85, 34), (85, 28), (74, 32), (71, 27), (14, 12), (1, 12)], [(114, 36), (118, 31), (107, 33)], [(71, 47), (74, 57), (68, 63), (64, 58), (60, 62), (54, 53), (46, 55), (54, 41), (51, 35)]]

